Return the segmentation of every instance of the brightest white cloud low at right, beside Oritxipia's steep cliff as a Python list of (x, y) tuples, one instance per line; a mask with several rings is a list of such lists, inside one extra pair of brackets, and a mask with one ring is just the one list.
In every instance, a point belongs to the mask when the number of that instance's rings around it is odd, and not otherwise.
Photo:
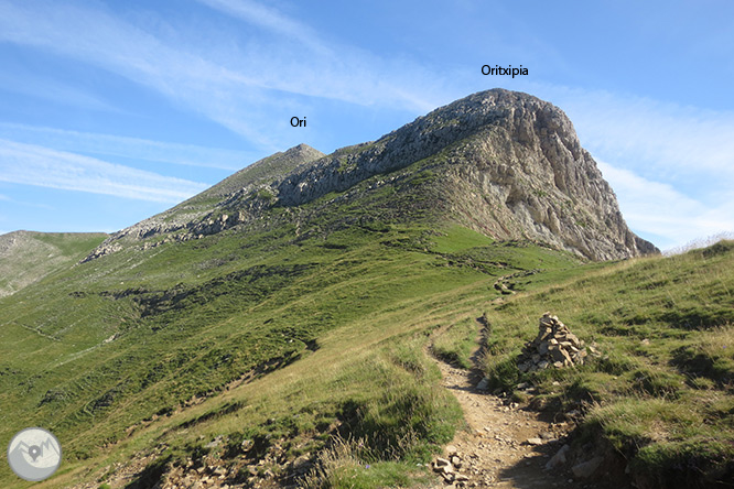
[(629, 227), (665, 238), (667, 242), (660, 243), (665, 248), (734, 231), (734, 193), (719, 205), (706, 206), (670, 184), (649, 181), (602, 161), (597, 164), (614, 188)]

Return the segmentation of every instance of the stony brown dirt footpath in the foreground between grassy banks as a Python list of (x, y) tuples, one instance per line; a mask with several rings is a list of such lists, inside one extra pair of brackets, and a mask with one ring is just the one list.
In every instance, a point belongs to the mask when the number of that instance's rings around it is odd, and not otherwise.
[(506, 489), (598, 487), (574, 480), (573, 475), (562, 468), (546, 470), (550, 458), (564, 445), (568, 425), (544, 422), (537, 413), (516, 403), (506, 404), (505, 400), (477, 390), (478, 371), (435, 361), (443, 374), (443, 387), (456, 396), (469, 426), (468, 431), (456, 433), (446, 447), (445, 460), (438, 460), (439, 465), (451, 461), (449, 470), (466, 476), (468, 480), (444, 477), (454, 479), (445, 487), (451, 487), (450, 483)]

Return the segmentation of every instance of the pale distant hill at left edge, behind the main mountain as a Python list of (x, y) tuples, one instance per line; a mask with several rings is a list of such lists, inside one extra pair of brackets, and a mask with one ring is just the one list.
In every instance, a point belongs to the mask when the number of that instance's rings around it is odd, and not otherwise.
[(0, 296), (72, 267), (106, 237), (102, 233), (33, 231), (0, 236)]

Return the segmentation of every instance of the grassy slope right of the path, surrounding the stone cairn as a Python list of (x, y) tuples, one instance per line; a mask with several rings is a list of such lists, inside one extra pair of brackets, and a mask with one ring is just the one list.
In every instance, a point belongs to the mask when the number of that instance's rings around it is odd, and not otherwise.
[[(703, 487), (731, 477), (734, 243), (593, 268), (487, 311), (489, 377), (509, 390), (536, 383), (537, 406), (580, 409), (579, 443), (601, 435), (651, 487)], [(514, 359), (544, 311), (595, 341), (604, 357), (521, 376)]]

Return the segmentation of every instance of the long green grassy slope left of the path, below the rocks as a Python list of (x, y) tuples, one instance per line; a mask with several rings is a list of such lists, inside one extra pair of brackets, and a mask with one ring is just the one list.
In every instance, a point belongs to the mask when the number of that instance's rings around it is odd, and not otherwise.
[[(341, 420), (370, 438), (373, 458), (424, 460), (450, 439), (458, 411), (436, 391), (424, 336), (413, 334), (479, 314), (501, 274), (542, 260), (575, 264), (512, 250), (461, 228), (442, 237), (373, 224), (309, 239), (288, 227), (227, 232), (94, 260), (0, 302), (2, 436), (29, 424), (54, 431), (67, 474), (48, 482), (57, 487), (108, 455), (158, 445), (151, 433), (165, 433), (177, 456), (202, 450), (198, 436), (215, 432), (313, 443), (299, 449), (314, 452), (324, 439), (304, 441)], [(220, 393), (278, 366), (288, 367)], [(219, 409), (233, 412), (191, 421)], [(0, 478), (14, 481), (7, 467)]]

